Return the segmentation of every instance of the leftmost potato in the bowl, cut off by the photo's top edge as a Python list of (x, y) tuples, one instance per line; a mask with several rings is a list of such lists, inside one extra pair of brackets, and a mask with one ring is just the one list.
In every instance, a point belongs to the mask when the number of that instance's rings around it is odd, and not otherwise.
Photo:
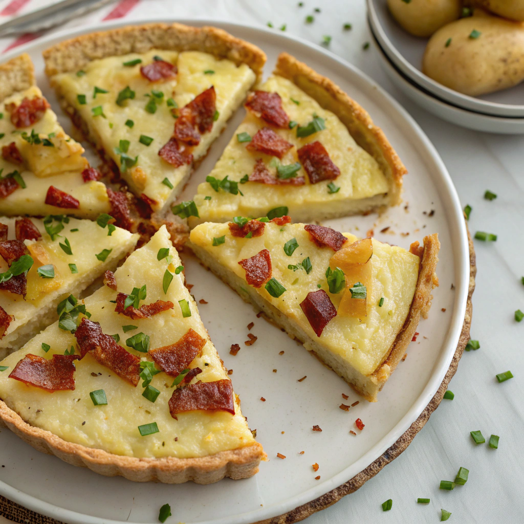
[(388, 0), (393, 18), (414, 36), (428, 37), (460, 17), (461, 0)]

